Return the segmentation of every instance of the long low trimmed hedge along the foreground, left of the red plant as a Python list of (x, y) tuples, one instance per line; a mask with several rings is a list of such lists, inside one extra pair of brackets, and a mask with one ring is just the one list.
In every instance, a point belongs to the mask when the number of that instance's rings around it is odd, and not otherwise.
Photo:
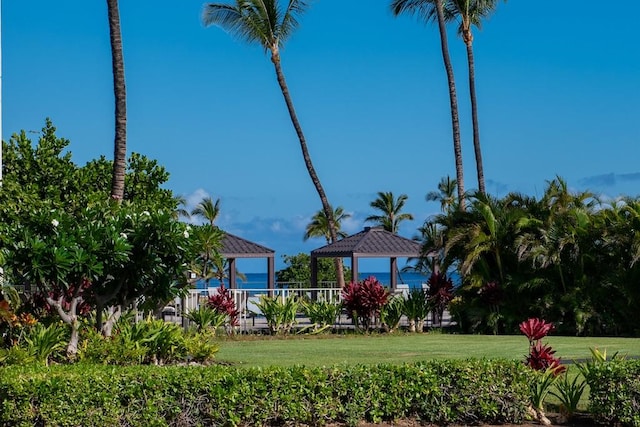
[(0, 369), (2, 426), (518, 423), (530, 371), (516, 361), (241, 369), (70, 365)]

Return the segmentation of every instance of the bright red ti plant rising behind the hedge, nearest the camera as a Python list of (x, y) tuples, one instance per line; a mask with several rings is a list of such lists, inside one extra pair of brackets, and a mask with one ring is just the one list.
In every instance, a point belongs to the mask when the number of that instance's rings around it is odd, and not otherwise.
[(550, 369), (557, 376), (567, 368), (560, 364), (560, 358), (554, 356), (556, 351), (550, 345), (540, 342), (553, 329), (553, 323), (538, 318), (530, 318), (520, 323), (520, 331), (529, 339), (529, 355), (525, 364), (537, 371)]

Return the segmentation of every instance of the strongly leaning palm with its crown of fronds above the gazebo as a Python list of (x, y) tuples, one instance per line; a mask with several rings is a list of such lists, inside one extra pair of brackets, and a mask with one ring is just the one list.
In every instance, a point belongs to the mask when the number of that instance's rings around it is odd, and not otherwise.
[(322, 209), (329, 221), (331, 241), (335, 242), (337, 234), (331, 205), (311, 162), (307, 141), (293, 107), (293, 101), (291, 100), (280, 63), (280, 48), (293, 31), (298, 28), (297, 16), (303, 14), (308, 6), (308, 0), (288, 0), (284, 8), (279, 5), (278, 0), (235, 0), (234, 4), (207, 3), (204, 6), (203, 21), (207, 26), (217, 25), (249, 43), (258, 43), (264, 48), (265, 52), (270, 52), (271, 62), (275, 68), (282, 96), (300, 142), (305, 166), (318, 192), (318, 196), (320, 196)]

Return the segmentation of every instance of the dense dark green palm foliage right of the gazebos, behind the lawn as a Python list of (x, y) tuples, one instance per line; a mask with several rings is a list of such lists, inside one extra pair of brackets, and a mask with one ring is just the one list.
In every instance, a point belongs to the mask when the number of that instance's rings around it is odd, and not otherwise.
[(418, 265), (461, 277), (454, 314), (464, 332), (515, 333), (539, 317), (560, 334), (638, 333), (638, 199), (599, 200), (557, 178), (540, 199), (472, 194), (465, 210), (420, 231)]

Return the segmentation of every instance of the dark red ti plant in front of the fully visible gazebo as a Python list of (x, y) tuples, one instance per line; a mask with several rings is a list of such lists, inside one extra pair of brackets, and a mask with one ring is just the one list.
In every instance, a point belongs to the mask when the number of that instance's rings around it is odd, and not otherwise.
[(387, 303), (389, 292), (374, 276), (369, 276), (361, 282), (351, 282), (342, 288), (342, 304), (356, 327), (369, 329), (380, 309)]

